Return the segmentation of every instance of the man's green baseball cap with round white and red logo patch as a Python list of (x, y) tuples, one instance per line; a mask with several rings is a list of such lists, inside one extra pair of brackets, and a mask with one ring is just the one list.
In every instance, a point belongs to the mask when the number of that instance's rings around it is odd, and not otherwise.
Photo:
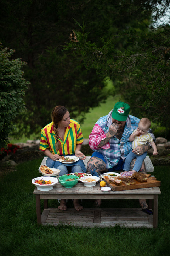
[(124, 102), (117, 102), (112, 111), (112, 118), (118, 121), (126, 121), (129, 115), (130, 106)]

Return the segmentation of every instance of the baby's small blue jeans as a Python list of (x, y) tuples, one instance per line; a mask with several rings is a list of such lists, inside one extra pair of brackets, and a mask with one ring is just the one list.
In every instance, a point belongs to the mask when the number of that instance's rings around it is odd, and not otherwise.
[(123, 170), (124, 171), (129, 171), (130, 170), (130, 164), (131, 164), (131, 161), (136, 158), (136, 161), (135, 161), (135, 165), (134, 165), (134, 168), (133, 170), (138, 172), (142, 166), (142, 162), (143, 160), (146, 158), (146, 155), (147, 155), (147, 152), (143, 153), (142, 155), (140, 156), (137, 156), (135, 153), (133, 153), (132, 151), (126, 156), (126, 160), (125, 160), (125, 165), (124, 165), (124, 168)]

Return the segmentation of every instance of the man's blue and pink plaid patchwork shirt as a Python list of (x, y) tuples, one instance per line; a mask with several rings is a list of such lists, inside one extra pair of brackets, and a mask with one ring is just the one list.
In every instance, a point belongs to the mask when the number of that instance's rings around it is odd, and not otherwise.
[(94, 151), (100, 152), (104, 156), (106, 168), (112, 168), (117, 165), (120, 158), (125, 161), (126, 156), (131, 151), (132, 142), (129, 141), (129, 136), (134, 129), (137, 129), (140, 121), (140, 119), (137, 117), (129, 115), (128, 119), (126, 120), (122, 138), (119, 140), (114, 135), (113, 138), (106, 143), (106, 145), (98, 148), (101, 140), (106, 138), (106, 133), (109, 131), (109, 127), (112, 124), (112, 111), (107, 116), (98, 119), (91, 134), (89, 135), (90, 148)]

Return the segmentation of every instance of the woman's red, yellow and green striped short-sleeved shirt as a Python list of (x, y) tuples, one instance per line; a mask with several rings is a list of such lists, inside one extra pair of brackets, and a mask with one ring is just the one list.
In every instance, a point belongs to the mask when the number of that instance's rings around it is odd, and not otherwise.
[(76, 145), (83, 143), (83, 134), (81, 132), (80, 124), (70, 119), (69, 127), (66, 127), (66, 132), (64, 134), (64, 140), (60, 137), (58, 138), (61, 148), (56, 152), (55, 143), (55, 133), (53, 130), (54, 123), (51, 122), (47, 124), (41, 130), (41, 140), (40, 140), (40, 150), (45, 151), (49, 149), (52, 154), (58, 155), (72, 155), (75, 153)]

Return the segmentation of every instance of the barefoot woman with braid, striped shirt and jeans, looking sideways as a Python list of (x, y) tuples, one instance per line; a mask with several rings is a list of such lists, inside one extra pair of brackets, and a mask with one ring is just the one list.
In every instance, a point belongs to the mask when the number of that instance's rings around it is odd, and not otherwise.
[[(83, 134), (80, 124), (70, 119), (70, 114), (64, 106), (56, 106), (51, 113), (52, 122), (47, 124), (41, 130), (40, 150), (48, 156), (47, 166), (49, 168), (60, 169), (60, 176), (70, 172), (86, 172), (85, 165), (82, 160), (86, 157), (80, 151), (83, 143)], [(61, 156), (77, 156), (81, 157), (77, 162), (66, 164), (56, 161)], [(74, 208), (82, 210), (83, 206), (79, 204), (78, 199), (73, 200)], [(60, 210), (66, 210), (66, 200), (61, 199)]]

